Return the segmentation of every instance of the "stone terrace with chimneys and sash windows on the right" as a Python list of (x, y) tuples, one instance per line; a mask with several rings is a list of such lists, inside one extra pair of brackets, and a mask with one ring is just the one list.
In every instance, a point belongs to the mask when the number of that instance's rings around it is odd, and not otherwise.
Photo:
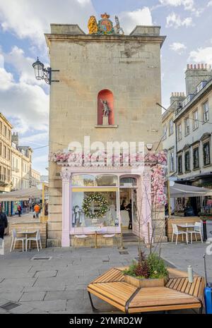
[(172, 94), (171, 105), (163, 114), (168, 175), (192, 186), (212, 188), (211, 66), (188, 64), (185, 83), (186, 95)]

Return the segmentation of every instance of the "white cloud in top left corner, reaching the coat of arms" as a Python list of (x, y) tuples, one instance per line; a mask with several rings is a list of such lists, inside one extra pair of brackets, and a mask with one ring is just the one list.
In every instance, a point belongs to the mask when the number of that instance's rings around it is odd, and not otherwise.
[(44, 32), (50, 23), (78, 23), (87, 31), (87, 21), (95, 13), (91, 0), (0, 0), (0, 24), (19, 38), (45, 44)]

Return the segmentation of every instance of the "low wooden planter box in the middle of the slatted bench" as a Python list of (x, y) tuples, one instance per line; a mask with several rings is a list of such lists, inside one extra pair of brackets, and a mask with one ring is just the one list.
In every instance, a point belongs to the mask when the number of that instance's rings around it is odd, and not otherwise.
[(141, 279), (136, 277), (128, 276), (124, 274), (124, 281), (128, 284), (131, 284), (135, 287), (164, 287), (167, 283), (167, 279), (158, 278), (158, 279)]

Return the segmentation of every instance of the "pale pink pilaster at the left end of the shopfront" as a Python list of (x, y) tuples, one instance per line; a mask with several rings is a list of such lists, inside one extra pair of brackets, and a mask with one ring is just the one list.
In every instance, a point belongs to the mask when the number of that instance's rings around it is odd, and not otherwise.
[(70, 213), (71, 213), (71, 172), (61, 171), (62, 178), (62, 233), (61, 247), (70, 246)]

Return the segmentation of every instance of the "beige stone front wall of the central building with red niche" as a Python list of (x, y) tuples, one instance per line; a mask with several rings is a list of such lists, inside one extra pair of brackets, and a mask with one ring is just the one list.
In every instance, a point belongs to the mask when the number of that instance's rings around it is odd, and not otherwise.
[[(85, 136), (90, 143), (142, 141), (155, 150), (162, 134), (156, 105), (165, 40), (160, 27), (136, 26), (130, 35), (86, 35), (78, 25), (52, 24), (45, 37), (51, 68), (59, 70), (52, 72), (52, 80), (59, 82), (50, 86), (49, 152), (67, 150), (73, 141), (83, 144)], [(101, 99), (107, 99), (111, 110), (106, 123), (100, 117)], [(49, 162), (48, 245), (70, 245), (70, 234), (78, 233), (71, 227), (71, 183), (83, 174), (91, 172)], [(127, 169), (93, 169), (95, 177), (111, 174), (118, 184), (109, 189), (117, 188), (117, 194), (119, 178), (133, 177)], [(119, 226), (109, 231), (119, 232)]]

